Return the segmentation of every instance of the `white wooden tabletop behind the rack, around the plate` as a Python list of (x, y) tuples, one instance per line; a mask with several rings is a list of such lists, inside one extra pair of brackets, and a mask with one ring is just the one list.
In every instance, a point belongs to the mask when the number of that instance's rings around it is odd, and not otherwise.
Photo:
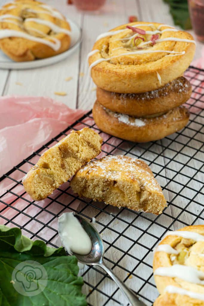
[[(2, 0), (1, 4), (8, 2)], [(66, 0), (44, 0), (72, 18), (83, 29), (79, 49), (62, 62), (47, 67), (27, 70), (0, 69), (1, 95), (49, 96), (71, 108), (91, 109), (95, 102), (95, 84), (88, 75), (87, 53), (91, 51), (98, 34), (128, 22), (130, 15), (139, 21), (161, 22), (173, 25), (169, 6), (162, 0), (106, 0), (100, 13), (81, 13)], [(189, 31), (193, 34), (193, 31)], [(202, 43), (198, 43), (195, 58), (201, 56)], [(65, 81), (66, 77), (72, 80)], [(22, 85), (20, 85), (20, 84)], [(67, 95), (55, 95), (65, 91)]]

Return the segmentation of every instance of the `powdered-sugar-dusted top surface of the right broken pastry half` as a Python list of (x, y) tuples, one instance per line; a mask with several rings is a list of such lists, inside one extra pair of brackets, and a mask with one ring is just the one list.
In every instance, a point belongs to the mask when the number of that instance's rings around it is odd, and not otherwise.
[(111, 181), (120, 181), (125, 177), (138, 181), (142, 189), (161, 192), (160, 185), (154, 176), (145, 169), (143, 162), (125, 155), (107, 155), (102, 159), (93, 160), (83, 166), (78, 173), (97, 174)]

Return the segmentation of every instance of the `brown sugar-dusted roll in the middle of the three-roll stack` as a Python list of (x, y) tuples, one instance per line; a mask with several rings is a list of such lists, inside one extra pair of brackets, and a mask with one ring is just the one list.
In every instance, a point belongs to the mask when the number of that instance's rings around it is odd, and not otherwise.
[(191, 92), (190, 82), (181, 76), (159, 89), (139, 94), (119, 94), (97, 87), (96, 97), (100, 104), (114, 112), (146, 116), (180, 106), (190, 99)]

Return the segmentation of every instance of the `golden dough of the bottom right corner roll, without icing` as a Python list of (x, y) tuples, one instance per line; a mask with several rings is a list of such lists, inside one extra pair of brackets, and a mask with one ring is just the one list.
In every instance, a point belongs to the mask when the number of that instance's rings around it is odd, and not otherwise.
[[(179, 231), (195, 232), (204, 236), (204, 225), (187, 226)], [(178, 236), (167, 236), (159, 245), (170, 244), (170, 246), (176, 249), (179, 254), (167, 254), (166, 252), (155, 252), (153, 260), (153, 270), (155, 271), (159, 267), (171, 267), (173, 264), (181, 264), (191, 266), (199, 271), (204, 272), (204, 258), (199, 254), (204, 253), (204, 241), (193, 241)], [(174, 259), (175, 257), (175, 259)], [(154, 275), (155, 283), (161, 296), (154, 302), (154, 306), (203, 306), (204, 302), (198, 299), (181, 295), (177, 293), (167, 293), (165, 288), (169, 285), (173, 285), (188, 291), (204, 294), (203, 285), (189, 283), (180, 278), (171, 278), (167, 276)], [(165, 304), (168, 301), (168, 304)]]

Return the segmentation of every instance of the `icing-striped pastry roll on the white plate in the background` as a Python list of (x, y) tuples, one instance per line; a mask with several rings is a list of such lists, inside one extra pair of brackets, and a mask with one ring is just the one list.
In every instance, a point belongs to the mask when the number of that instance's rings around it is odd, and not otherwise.
[(72, 31), (65, 17), (42, 2), (16, 0), (0, 9), (0, 47), (15, 61), (64, 52), (71, 38)]

